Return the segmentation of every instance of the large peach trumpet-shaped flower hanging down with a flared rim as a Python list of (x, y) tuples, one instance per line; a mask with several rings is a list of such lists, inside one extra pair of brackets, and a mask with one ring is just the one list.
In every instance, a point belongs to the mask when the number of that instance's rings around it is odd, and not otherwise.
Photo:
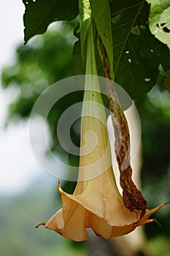
[(141, 211), (131, 212), (124, 206), (117, 189), (97, 76), (85, 77), (80, 148), (77, 187), (70, 195), (58, 184), (63, 207), (42, 225), (65, 238), (83, 241), (88, 239), (87, 227), (101, 238), (108, 239), (123, 236), (140, 225), (155, 221), (148, 218), (164, 204), (146, 209), (141, 218)]

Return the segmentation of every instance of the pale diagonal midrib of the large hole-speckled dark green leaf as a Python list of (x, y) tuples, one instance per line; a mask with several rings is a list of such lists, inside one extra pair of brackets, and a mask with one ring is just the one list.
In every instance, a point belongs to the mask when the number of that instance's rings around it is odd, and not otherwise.
[[(135, 18), (134, 18), (134, 20), (133, 20), (132, 23), (131, 23), (131, 28), (129, 29), (128, 34), (127, 34), (127, 36), (125, 37), (125, 41), (123, 42), (123, 47), (122, 47), (122, 50), (120, 51), (120, 56), (119, 56), (119, 58), (117, 59), (117, 64), (116, 64), (116, 67), (115, 67), (115, 75), (116, 75), (117, 68), (118, 68), (119, 63), (120, 63), (120, 59), (122, 58), (122, 55), (123, 55), (123, 50), (124, 50), (124, 48), (125, 48), (126, 43), (128, 42), (128, 37), (129, 37), (129, 35), (131, 34), (131, 29), (133, 28), (134, 23), (136, 23), (136, 19), (137, 19), (138, 15), (139, 15), (139, 12), (142, 10), (142, 7), (143, 7), (143, 5), (144, 5), (144, 1), (142, 1), (140, 4), (141, 4), (141, 5), (139, 6), (139, 10), (138, 10), (138, 12), (136, 12)], [(121, 12), (123, 12), (124, 10), (127, 10), (127, 9), (129, 9), (129, 8), (136, 7), (136, 5), (139, 5), (139, 4), (134, 4), (134, 5), (131, 6), (131, 7), (128, 7), (128, 8), (125, 8), (125, 9), (121, 10)], [(117, 13), (118, 13), (118, 12), (117, 12)], [(114, 13), (114, 15), (115, 15), (115, 13)], [(128, 22), (128, 23), (129, 23), (129, 22)], [(124, 23), (123, 25), (126, 25), (126, 23)], [(117, 27), (115, 27), (115, 28), (117, 28)]]

